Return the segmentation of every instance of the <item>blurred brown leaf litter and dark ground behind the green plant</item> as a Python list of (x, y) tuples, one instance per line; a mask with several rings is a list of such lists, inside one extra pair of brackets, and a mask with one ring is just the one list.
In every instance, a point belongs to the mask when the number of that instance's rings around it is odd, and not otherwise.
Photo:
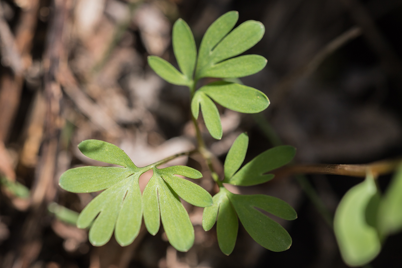
[[(80, 153), (82, 140), (114, 143), (137, 166), (194, 148), (188, 88), (164, 82), (146, 59), (158, 55), (177, 66), (174, 21), (187, 21), (198, 46), (209, 25), (230, 10), (239, 11), (237, 25), (265, 25), (263, 39), (246, 54), (263, 55), (267, 66), (241, 80), (267, 94), (271, 105), (258, 115), (219, 106), (219, 141), (199, 121), (221, 162), (244, 131), (250, 137), (246, 161), (281, 143), (295, 146), (295, 162), (303, 164), (400, 157), (401, 0), (1, 0), (0, 267), (347, 267), (332, 229), (292, 176), (231, 188), (277, 196), (297, 210), (295, 221), (278, 220), (293, 238), (285, 252), (262, 248), (240, 227), (234, 252), (225, 256), (215, 228), (201, 227), (202, 209), (189, 204), (195, 244), (187, 253), (176, 252), (162, 228), (156, 236), (143, 229), (124, 248), (113, 237), (96, 248), (87, 231), (72, 224), (74, 212), (96, 193), (62, 190), (60, 174), (104, 165)], [(213, 193), (197, 155), (169, 164), (201, 170), (197, 183)], [(362, 180), (306, 178), (330, 214)], [(381, 176), (380, 187), (389, 180)], [(146, 181), (140, 178), (142, 189)], [(401, 239), (390, 237), (370, 267), (400, 267)]]

